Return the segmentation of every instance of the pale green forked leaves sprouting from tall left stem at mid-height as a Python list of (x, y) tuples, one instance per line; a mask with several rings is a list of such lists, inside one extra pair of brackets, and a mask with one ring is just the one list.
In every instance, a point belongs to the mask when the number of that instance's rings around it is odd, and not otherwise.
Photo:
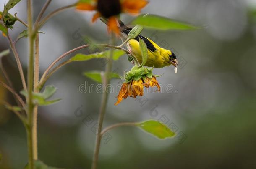
[[(33, 93), (33, 103), (39, 106), (47, 106), (60, 101), (61, 99), (50, 101), (46, 100), (50, 98), (56, 92), (56, 90), (57, 88), (55, 88), (54, 86), (46, 86), (42, 93)], [(27, 92), (24, 90), (22, 90), (20, 93), (25, 97), (27, 97), (28, 95)]]

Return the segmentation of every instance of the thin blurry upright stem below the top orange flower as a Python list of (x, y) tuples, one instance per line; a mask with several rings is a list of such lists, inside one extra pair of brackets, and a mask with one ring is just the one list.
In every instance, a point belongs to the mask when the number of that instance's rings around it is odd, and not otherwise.
[[(115, 35), (112, 33), (111, 45), (115, 45)], [(108, 100), (108, 92), (107, 92), (107, 85), (110, 83), (109, 73), (112, 70), (112, 55), (113, 55), (113, 48), (110, 50), (110, 60), (107, 62), (107, 66), (105, 69), (104, 77), (103, 77), (103, 86), (104, 86), (104, 93), (102, 96), (102, 102), (99, 110), (99, 119), (98, 119), (98, 131), (97, 131), (97, 137), (96, 137), (96, 143), (95, 143), (95, 149), (94, 149), (94, 157), (91, 165), (91, 169), (97, 169), (97, 162), (99, 159), (99, 148), (100, 148), (100, 142), (101, 142), (101, 131), (102, 131), (102, 124), (104, 120), (104, 114), (106, 112), (107, 108), (107, 100)]]

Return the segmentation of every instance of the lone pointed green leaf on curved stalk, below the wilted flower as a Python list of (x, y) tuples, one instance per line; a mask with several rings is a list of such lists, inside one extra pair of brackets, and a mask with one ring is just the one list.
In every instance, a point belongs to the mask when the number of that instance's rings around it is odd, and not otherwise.
[(159, 139), (165, 139), (166, 137), (175, 136), (175, 133), (171, 131), (165, 124), (160, 123), (159, 121), (149, 120), (144, 121), (138, 124), (144, 131), (153, 134)]

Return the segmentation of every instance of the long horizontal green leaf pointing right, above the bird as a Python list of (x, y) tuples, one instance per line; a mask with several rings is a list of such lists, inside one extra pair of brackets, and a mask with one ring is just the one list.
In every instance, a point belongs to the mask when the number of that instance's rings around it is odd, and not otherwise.
[(159, 30), (195, 30), (199, 29), (193, 25), (178, 22), (169, 18), (157, 15), (140, 15), (132, 22), (133, 25), (139, 24), (148, 28)]

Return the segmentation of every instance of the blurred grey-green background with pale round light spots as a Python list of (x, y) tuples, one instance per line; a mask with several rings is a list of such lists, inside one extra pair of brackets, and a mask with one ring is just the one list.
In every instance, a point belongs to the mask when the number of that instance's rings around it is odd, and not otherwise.
[[(3, 9), (7, 0), (1, 0)], [(47, 13), (73, 0), (53, 0)], [(34, 0), (35, 16), (44, 1)], [(10, 10), (26, 20), (26, 2)], [(109, 132), (103, 141), (99, 169), (253, 169), (256, 168), (256, 0), (151, 0), (143, 13), (163, 15), (205, 28), (196, 31), (144, 30), (161, 47), (178, 55), (180, 67), (154, 69), (163, 86), (171, 92), (146, 93), (142, 100), (127, 98), (114, 106), (117, 93), (110, 94), (104, 127), (124, 121), (157, 119), (177, 132), (172, 139), (159, 140), (140, 129), (121, 127)], [(83, 39), (108, 42), (106, 27), (91, 24), (93, 13), (69, 9), (50, 20), (40, 34), (40, 71), (66, 51), (82, 45)], [(132, 17), (121, 16), (125, 23)], [(24, 27), (18, 22), (11, 35)], [(0, 51), (8, 49), (0, 38)], [(17, 43), (24, 71), (27, 63), (26, 39)], [(81, 50), (81, 53), (89, 53)], [(72, 55), (70, 55), (71, 57)], [(3, 63), (21, 90), (12, 54)], [(84, 77), (90, 70), (104, 70), (103, 61), (71, 63), (57, 71), (47, 82), (58, 90), (59, 103), (39, 108), (39, 159), (60, 168), (90, 168), (94, 149), (99, 103), (102, 94), (97, 83)], [(123, 56), (115, 61), (120, 75), (132, 67)], [(3, 79), (2, 75), (0, 76)], [(86, 82), (87, 81), (87, 82)], [(87, 83), (92, 92), (81, 92)], [(113, 80), (112, 85), (118, 85)], [(0, 99), (15, 103), (0, 87)], [(145, 101), (146, 100), (146, 101)], [(88, 119), (93, 119), (88, 123)], [(86, 123), (87, 120), (87, 123)], [(27, 163), (26, 132), (19, 119), (0, 106), (1, 169), (22, 169)]]

